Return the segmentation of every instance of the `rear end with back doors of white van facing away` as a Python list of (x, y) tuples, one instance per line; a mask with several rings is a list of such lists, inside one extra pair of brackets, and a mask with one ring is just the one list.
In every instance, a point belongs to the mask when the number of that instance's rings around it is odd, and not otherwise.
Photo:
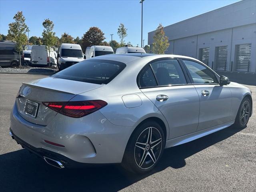
[(44, 45), (33, 45), (31, 50), (31, 64), (47, 66), (47, 50)]

